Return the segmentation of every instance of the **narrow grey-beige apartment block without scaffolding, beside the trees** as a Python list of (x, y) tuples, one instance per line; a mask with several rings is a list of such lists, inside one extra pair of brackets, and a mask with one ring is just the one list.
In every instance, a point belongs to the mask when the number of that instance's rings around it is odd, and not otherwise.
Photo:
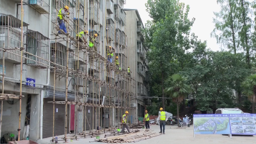
[(138, 116), (143, 117), (145, 108), (150, 102), (149, 96), (149, 77), (148, 77), (148, 65), (147, 65), (147, 51), (148, 48), (143, 45), (144, 37), (142, 35), (142, 29), (144, 29), (140, 14), (136, 9), (124, 9), (126, 13), (127, 23), (125, 30), (127, 31), (127, 39), (129, 41), (128, 46), (129, 59), (131, 63), (131, 70), (134, 73), (132, 76), (136, 77), (136, 94), (137, 94), (137, 109)]

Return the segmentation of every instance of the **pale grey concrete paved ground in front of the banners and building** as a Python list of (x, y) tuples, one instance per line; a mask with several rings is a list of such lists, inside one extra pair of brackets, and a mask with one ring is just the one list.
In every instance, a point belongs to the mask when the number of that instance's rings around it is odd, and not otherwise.
[[(172, 127), (172, 128), (170, 128)], [(159, 132), (159, 125), (150, 125), (150, 129), (153, 129), (156, 132)], [(148, 140), (139, 141), (137, 143), (140, 144), (167, 144), (167, 143), (180, 143), (180, 144), (198, 144), (198, 143), (207, 143), (207, 144), (256, 144), (255, 136), (232, 136), (229, 138), (228, 136), (223, 135), (196, 135), (193, 138), (193, 126), (186, 127), (183, 129), (177, 129), (177, 126), (166, 125), (166, 134), (162, 134), (161, 136), (156, 136), (154, 138), (150, 138)], [(102, 136), (103, 138), (103, 136)], [(44, 139), (42, 141), (38, 141), (38, 143), (49, 143), (51, 138)], [(90, 141), (94, 141), (95, 138), (86, 138), (80, 139), (78, 141), (72, 141), (68, 143), (76, 143), (76, 144), (84, 144), (89, 143)], [(61, 141), (60, 141), (61, 142)], [(92, 144), (99, 142), (90, 142)]]

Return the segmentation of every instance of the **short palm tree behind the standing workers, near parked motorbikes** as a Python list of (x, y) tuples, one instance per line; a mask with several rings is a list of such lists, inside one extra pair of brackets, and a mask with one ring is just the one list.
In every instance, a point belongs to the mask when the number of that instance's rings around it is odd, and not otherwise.
[(172, 97), (173, 102), (177, 104), (177, 116), (179, 126), (179, 104), (184, 100), (184, 97), (190, 93), (190, 86), (186, 84), (186, 78), (179, 74), (173, 74), (167, 81), (169, 88), (165, 92)]

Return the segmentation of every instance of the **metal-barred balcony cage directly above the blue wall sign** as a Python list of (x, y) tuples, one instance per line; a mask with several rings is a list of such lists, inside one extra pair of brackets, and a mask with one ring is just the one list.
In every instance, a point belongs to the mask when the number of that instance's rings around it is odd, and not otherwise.
[[(49, 38), (37, 31), (28, 29), (26, 51), (26, 64), (38, 68), (47, 68), (49, 60)], [(33, 55), (32, 55), (33, 54)], [(41, 58), (45, 59), (42, 60)]]

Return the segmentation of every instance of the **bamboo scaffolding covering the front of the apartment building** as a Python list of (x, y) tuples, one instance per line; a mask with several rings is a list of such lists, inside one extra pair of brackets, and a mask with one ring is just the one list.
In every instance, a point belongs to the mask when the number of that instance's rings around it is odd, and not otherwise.
[[(43, 6), (38, 3), (39, 1), (34, 2), (41, 7)], [(22, 3), (21, 0), (21, 12), (23, 13)], [(67, 33), (60, 29), (57, 20), (58, 12), (65, 5), (69, 7), (70, 13), (68, 17), (63, 17), (63, 21), (67, 27)], [(122, 12), (124, 10), (118, 4), (115, 4), (115, 6), (115, 14), (117, 13), (119, 19), (116, 22), (107, 18), (108, 8), (104, 10), (105, 15), (102, 15), (100, 18), (100, 6), (97, 0), (52, 0), (51, 8), (49, 10), (47, 8), (44, 9), (52, 16), (51, 33), (54, 38), (51, 40), (55, 42), (49, 42), (49, 38), (46, 36), (37, 31), (29, 30), (28, 24), (23, 22), (23, 14), (21, 15), (21, 20), (12, 15), (0, 14), (0, 60), (3, 60), (3, 72), (4, 61), (20, 64), (20, 95), (4, 93), (4, 74), (2, 74), (0, 135), (3, 100), (19, 99), (18, 140), (20, 140), (20, 116), (24, 115), (21, 113), (21, 101), (23, 97), (22, 65), (24, 64), (37, 68), (49, 68), (54, 74), (53, 99), (49, 102), (52, 103), (53, 107), (52, 141), (55, 140), (54, 124), (56, 122), (54, 120), (56, 104), (65, 104), (65, 136), (63, 138), (65, 141), (67, 141), (67, 134), (69, 133), (67, 131), (68, 105), (75, 105), (74, 134), (76, 137), (80, 136), (81, 138), (86, 138), (88, 134), (93, 136), (95, 131), (97, 134), (100, 134), (100, 127), (104, 129), (120, 127), (122, 115), (125, 111), (132, 111), (132, 115), (136, 115), (135, 72), (132, 76), (127, 74), (126, 69), (132, 63), (128, 62), (129, 56), (127, 56), (127, 47), (125, 44), (127, 36), (124, 31), (120, 30), (120, 25), (118, 25), (122, 21), (121, 25), (124, 26), (123, 23), (125, 24), (126, 18), (122, 18)], [(82, 12), (83, 17), (79, 17), (79, 13)], [(103, 27), (104, 29), (108, 29), (108, 31), (100, 33), (100, 19), (103, 19)], [(86, 42), (79, 42), (77, 40), (76, 36), (80, 31), (89, 31), (85, 35)], [(95, 34), (98, 36), (93, 37)], [(104, 44), (102, 44), (103, 41)], [(93, 47), (88, 46), (89, 42), (93, 43)], [(115, 51), (113, 52), (115, 54), (114, 57), (119, 56), (119, 65), (107, 60), (106, 46), (109, 45), (112, 45), (112, 51)], [(125, 46), (120, 47), (120, 45)], [(56, 83), (60, 79), (65, 79), (65, 100), (56, 101)], [(73, 79), (74, 101), (68, 100), (70, 79)], [(92, 122), (90, 123), (86, 115), (87, 109), (92, 109), (93, 113)], [(77, 120), (78, 115), (80, 115), (79, 111), (83, 111), (82, 124)], [(132, 122), (132, 117), (129, 117), (128, 121)], [(90, 132), (86, 133), (88, 126), (90, 127)]]

